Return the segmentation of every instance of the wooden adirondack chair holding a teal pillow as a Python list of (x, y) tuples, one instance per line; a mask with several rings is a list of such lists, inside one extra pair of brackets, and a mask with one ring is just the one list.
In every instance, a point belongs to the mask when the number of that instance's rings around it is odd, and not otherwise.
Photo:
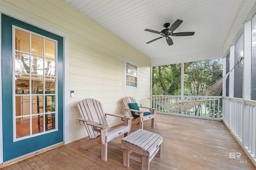
[[(130, 117), (133, 117), (132, 119), (132, 125), (136, 123), (140, 123), (140, 128), (143, 129), (143, 122), (151, 119), (151, 127), (155, 127), (155, 115), (156, 115), (156, 109), (148, 108), (148, 107), (138, 107), (138, 109), (132, 109), (129, 105), (129, 103), (136, 104), (136, 101), (132, 97), (125, 97), (123, 99), (124, 105), (125, 105), (125, 111), (129, 113)], [(137, 104), (138, 105), (138, 104)], [(145, 111), (139, 111), (139, 108), (149, 109), (149, 112)], [(134, 112), (134, 114), (132, 113)], [(145, 113), (149, 114), (146, 115)], [(139, 117), (136, 117), (138, 115)]]

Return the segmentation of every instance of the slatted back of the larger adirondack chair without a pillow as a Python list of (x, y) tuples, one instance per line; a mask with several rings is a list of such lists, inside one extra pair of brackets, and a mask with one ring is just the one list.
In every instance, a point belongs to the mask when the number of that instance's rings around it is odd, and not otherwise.
[[(83, 119), (108, 125), (102, 105), (95, 99), (84, 99), (77, 105)], [(84, 124), (90, 138), (95, 138), (100, 133), (93, 131), (91, 126)]]

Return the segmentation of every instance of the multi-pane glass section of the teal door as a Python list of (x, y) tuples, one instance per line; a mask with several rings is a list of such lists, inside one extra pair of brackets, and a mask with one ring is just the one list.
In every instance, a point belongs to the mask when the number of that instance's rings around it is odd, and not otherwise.
[(56, 42), (18, 28), (15, 34), (14, 132), (32, 137), (55, 129)]

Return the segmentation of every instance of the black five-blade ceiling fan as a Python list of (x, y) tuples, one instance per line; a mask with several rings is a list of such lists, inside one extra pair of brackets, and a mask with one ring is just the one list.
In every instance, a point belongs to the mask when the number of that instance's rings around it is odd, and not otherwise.
[[(176, 20), (171, 26), (170, 26), (170, 23), (165, 23), (164, 24), (164, 30), (162, 30), (161, 32), (159, 31), (155, 31), (155, 30), (150, 30), (150, 29), (146, 29), (145, 31), (148, 31), (148, 32), (153, 32), (153, 33), (156, 33), (156, 34), (160, 34), (162, 37), (158, 37), (154, 40), (151, 40), (149, 42), (146, 42), (146, 43), (151, 43), (151, 42), (154, 42), (160, 38), (163, 38), (165, 37), (166, 38), (166, 42), (168, 43), (168, 45), (172, 45), (173, 42), (172, 42), (172, 39), (170, 38), (170, 36), (193, 36), (195, 34), (195, 32), (176, 32), (176, 33), (173, 33), (174, 30), (176, 30), (176, 28), (178, 28), (178, 26), (180, 26), (180, 24), (182, 23), (183, 21), (182, 20)], [(170, 28), (168, 28), (170, 26)]]

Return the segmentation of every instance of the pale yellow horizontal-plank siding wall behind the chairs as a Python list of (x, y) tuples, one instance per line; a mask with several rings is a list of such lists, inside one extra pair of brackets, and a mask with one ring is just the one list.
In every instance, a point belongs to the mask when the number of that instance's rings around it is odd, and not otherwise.
[[(151, 94), (150, 58), (140, 53), (62, 0), (0, 0), (0, 4), (69, 36), (69, 141), (87, 136), (80, 125), (77, 103), (85, 98), (99, 100), (106, 113), (127, 115), (122, 99), (133, 96), (149, 106)], [(123, 57), (139, 64), (138, 91), (123, 91)], [(66, 107), (66, 106), (65, 106)], [(114, 126), (120, 119), (108, 117)]]

